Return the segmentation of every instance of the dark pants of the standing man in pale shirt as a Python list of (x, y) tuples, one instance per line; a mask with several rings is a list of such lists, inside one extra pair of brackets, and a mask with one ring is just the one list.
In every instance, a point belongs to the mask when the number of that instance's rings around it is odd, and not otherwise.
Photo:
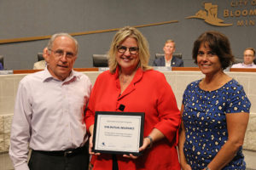
[(67, 156), (32, 150), (28, 167), (30, 170), (87, 170), (88, 163), (89, 154), (86, 147), (82, 152)]

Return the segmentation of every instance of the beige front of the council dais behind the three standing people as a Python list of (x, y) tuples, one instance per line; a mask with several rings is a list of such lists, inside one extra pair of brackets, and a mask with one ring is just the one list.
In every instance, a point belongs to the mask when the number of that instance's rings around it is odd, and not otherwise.
[[(96, 77), (100, 72), (84, 72), (90, 77), (92, 83), (96, 81)], [(200, 71), (168, 71), (164, 72), (167, 82), (172, 86), (172, 90), (177, 99), (178, 107), (181, 106), (183, 91), (189, 82), (198, 80), (203, 77)], [(247, 127), (246, 138), (243, 148), (253, 150), (253, 157), (256, 151), (256, 74), (250, 72), (227, 72), (230, 77), (234, 77), (240, 82), (252, 103), (249, 125)], [(14, 113), (15, 94), (20, 80), (25, 77), (25, 74), (16, 75), (0, 75), (0, 162), (5, 162), (5, 167), (12, 167), (9, 157), (6, 152), (9, 150), (9, 133)], [(1, 154), (5, 152), (5, 154)], [(252, 156), (249, 158), (254, 159)], [(246, 157), (247, 158), (247, 157)], [(247, 158), (248, 159), (248, 158)], [(2, 164), (2, 163), (1, 163)], [(248, 164), (247, 164), (248, 165)], [(8, 168), (9, 169), (9, 168)]]

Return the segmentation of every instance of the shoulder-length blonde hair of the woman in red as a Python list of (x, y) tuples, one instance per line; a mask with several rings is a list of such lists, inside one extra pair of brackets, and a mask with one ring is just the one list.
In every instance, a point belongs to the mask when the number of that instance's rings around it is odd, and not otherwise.
[(133, 37), (137, 40), (137, 45), (139, 48), (138, 57), (140, 60), (138, 67), (141, 67), (143, 71), (152, 69), (152, 67), (148, 65), (148, 60), (150, 57), (148, 41), (145, 37), (143, 37), (143, 34), (136, 28), (131, 26), (125, 26), (114, 35), (108, 51), (108, 66), (110, 72), (114, 73), (116, 71), (116, 67), (118, 66), (117, 60), (115, 59), (117, 54), (117, 46), (119, 46), (120, 43), (124, 42), (127, 37)]

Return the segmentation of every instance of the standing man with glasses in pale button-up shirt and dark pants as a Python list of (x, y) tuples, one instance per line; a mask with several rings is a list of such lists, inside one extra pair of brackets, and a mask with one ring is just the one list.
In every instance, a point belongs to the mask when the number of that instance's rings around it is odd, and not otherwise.
[[(47, 67), (20, 81), (9, 148), (15, 169), (87, 169), (84, 109), (91, 82), (73, 71), (77, 54), (73, 37), (55, 34), (45, 55)], [(29, 148), (32, 155), (27, 163)]]

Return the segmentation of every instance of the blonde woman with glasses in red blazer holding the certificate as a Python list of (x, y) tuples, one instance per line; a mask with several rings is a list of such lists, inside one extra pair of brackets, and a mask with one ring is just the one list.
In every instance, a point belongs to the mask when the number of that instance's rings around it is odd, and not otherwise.
[[(90, 95), (85, 122), (93, 134), (95, 111), (144, 112), (142, 156), (96, 154), (93, 169), (179, 169), (180, 115), (166, 77), (148, 66), (148, 42), (133, 27), (120, 29), (108, 52), (109, 71), (100, 74)], [(92, 148), (90, 137), (90, 154)], [(150, 146), (150, 147), (149, 147)]]

